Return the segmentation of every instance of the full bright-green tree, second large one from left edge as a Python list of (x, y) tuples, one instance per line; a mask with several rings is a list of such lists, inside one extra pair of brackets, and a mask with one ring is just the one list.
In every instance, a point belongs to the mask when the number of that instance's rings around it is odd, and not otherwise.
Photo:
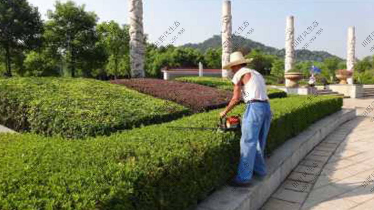
[(95, 31), (97, 16), (93, 12), (85, 12), (85, 5), (76, 6), (73, 1), (61, 3), (56, 1), (55, 11), (48, 11), (50, 21), (46, 34), (49, 36), (54, 51), (62, 51), (70, 69), (71, 77), (75, 77), (78, 67), (96, 61), (95, 43), (100, 31)]

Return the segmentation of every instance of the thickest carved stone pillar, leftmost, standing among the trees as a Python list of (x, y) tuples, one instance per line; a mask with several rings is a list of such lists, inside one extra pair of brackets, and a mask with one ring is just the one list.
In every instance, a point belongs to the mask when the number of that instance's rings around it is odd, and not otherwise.
[(130, 67), (132, 78), (144, 78), (144, 31), (142, 0), (129, 0)]

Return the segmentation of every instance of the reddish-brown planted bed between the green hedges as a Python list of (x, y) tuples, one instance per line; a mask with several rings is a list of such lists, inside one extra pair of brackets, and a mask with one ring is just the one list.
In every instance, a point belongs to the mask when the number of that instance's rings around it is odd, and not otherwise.
[(183, 106), (193, 112), (224, 107), (232, 97), (230, 91), (179, 81), (144, 78), (111, 80), (110, 83), (124, 84), (128, 88), (165, 100), (175, 98), (174, 92), (178, 92), (180, 96), (177, 99), (185, 99)]

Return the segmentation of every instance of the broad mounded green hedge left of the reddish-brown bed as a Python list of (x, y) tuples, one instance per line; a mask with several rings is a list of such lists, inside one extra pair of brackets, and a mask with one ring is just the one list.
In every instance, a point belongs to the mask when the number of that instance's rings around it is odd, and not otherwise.
[[(31, 100), (32, 107), (27, 108), (25, 114), (19, 118), (16, 113), (38, 91), (41, 97), (34, 98), (36, 101)], [(110, 93), (109, 98), (105, 92)], [(182, 99), (177, 99), (179, 98)], [(39, 110), (36, 109), (36, 113), (32, 111), (43, 99), (45, 104)], [(99, 109), (103, 109), (111, 99), (116, 101), (108, 106), (107, 111), (97, 121), (86, 117), (85, 113), (89, 115), (87, 111), (91, 106), (96, 108), (94, 113), (98, 114), (101, 112)], [(96, 101), (101, 105), (95, 106)], [(158, 123), (160, 120), (157, 119), (160, 118), (156, 119), (154, 112), (164, 102), (123, 86), (92, 79), (0, 79), (0, 124), (20, 132), (31, 131), (47, 136), (83, 138), (110, 135), (117, 130)], [(185, 112), (188, 112), (188, 109), (181, 106), (172, 116), (177, 118)], [(27, 119), (29, 114), (31, 117)], [(166, 115), (166, 111), (162, 115)]]

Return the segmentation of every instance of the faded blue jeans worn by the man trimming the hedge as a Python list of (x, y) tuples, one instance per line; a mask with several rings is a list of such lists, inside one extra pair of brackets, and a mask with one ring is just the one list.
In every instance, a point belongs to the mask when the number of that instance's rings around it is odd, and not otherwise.
[(251, 180), (253, 173), (250, 173), (250, 171), (252, 169), (260, 176), (266, 175), (264, 149), (270, 129), (270, 121), (270, 104), (253, 102), (246, 108), (242, 118), (240, 160), (235, 182), (246, 183)]

